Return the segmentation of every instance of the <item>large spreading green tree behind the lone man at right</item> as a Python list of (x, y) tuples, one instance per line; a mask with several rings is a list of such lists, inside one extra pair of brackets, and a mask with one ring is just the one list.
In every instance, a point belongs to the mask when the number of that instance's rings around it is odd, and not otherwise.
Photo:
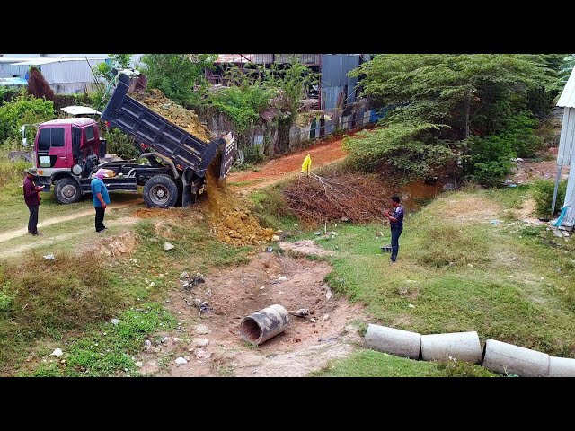
[[(464, 176), (491, 185), (509, 173), (512, 157), (531, 156), (541, 145), (533, 131), (558, 91), (558, 60), (531, 54), (378, 55), (349, 75), (362, 75), (362, 93), (391, 108), (384, 124), (406, 131), (435, 126), (426, 128), (423, 142), (440, 145), (442, 152), (448, 148)], [(386, 142), (370, 143), (388, 148), (373, 150), (381, 158), (372, 165), (391, 163), (384, 154), (394, 145)], [(404, 164), (417, 166), (420, 142), (404, 140)], [(361, 145), (349, 149), (362, 151)]]

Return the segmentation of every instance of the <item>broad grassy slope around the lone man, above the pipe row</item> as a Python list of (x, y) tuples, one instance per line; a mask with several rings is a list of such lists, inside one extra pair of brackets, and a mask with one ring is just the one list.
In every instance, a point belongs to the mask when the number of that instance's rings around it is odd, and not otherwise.
[[(522, 191), (509, 190), (510, 197), (507, 190), (467, 195), (488, 199), (485, 205), (494, 199), (493, 205), (502, 205), (497, 212), (520, 205)], [(366, 303), (367, 312), (386, 326), (422, 334), (477, 330), (482, 339), (575, 356), (572, 242), (554, 239), (544, 228), (451, 220), (449, 202), (458, 197), (438, 198), (406, 218), (393, 267), (379, 251), (389, 242), (388, 231), (379, 238), (377, 225), (336, 229), (336, 238), (320, 241), (336, 251), (327, 281), (352, 301)]]

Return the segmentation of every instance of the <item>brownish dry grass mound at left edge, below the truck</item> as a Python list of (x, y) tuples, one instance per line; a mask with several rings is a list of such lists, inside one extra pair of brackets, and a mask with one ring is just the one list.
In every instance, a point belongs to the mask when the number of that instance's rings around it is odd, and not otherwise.
[(66, 331), (107, 319), (128, 296), (111, 285), (98, 256), (61, 254), (46, 260), (35, 251), (0, 263), (0, 286), (1, 374), (18, 364), (35, 341), (61, 339)]

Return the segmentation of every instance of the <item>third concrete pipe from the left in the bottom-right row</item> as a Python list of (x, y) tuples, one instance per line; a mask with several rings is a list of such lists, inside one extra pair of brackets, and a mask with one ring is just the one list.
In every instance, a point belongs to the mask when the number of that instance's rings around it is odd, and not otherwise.
[(485, 343), (483, 366), (500, 374), (546, 377), (549, 372), (549, 355), (495, 339), (488, 339)]

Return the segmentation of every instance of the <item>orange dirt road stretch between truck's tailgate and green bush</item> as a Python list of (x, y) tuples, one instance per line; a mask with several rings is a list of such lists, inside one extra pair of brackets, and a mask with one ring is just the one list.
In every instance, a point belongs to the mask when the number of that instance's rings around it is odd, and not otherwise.
[[(349, 136), (351, 135), (353, 134), (349, 134)], [(296, 175), (301, 171), (302, 163), (304, 163), (307, 154), (310, 154), (312, 158), (312, 169), (337, 162), (347, 154), (341, 146), (342, 142), (343, 138), (339, 138), (279, 159), (270, 160), (270, 162), (262, 164), (257, 172), (234, 172), (227, 176), (227, 183), (233, 186), (234, 190), (242, 190), (242, 192), (260, 189), (290, 175)]]

